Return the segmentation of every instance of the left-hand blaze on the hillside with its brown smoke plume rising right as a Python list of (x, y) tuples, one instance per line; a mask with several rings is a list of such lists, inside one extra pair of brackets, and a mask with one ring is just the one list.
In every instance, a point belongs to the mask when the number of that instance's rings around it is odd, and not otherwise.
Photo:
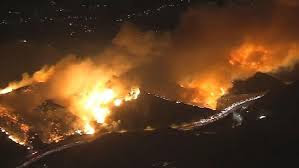
[[(58, 141), (78, 130), (93, 134), (95, 122), (110, 122), (107, 116), (113, 106), (138, 97), (137, 83), (121, 76), (159, 54), (156, 48), (163, 44), (156, 42), (165, 40), (158, 38), (164, 37), (139, 32), (128, 24), (112, 45), (96, 56), (69, 55), (32, 76), (24, 73), (21, 81), (1, 90), (1, 105), (18, 114), (19, 122), (24, 119), (44, 142)], [(20, 138), (24, 139), (15, 137)]]

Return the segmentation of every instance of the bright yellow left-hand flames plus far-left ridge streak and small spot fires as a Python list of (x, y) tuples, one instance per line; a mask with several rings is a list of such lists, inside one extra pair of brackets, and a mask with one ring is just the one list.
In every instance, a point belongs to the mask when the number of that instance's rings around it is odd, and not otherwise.
[[(48, 78), (51, 73), (50, 71), (41, 70), (34, 73), (32, 77), (23, 75), (23, 79), (21, 81), (10, 83), (7, 88), (0, 90), (0, 94), (6, 94), (20, 87), (37, 82), (48, 82), (47, 80), (51, 80), (51, 78)], [(106, 82), (106, 80), (99, 80), (98, 82), (93, 83), (87, 80), (83, 83), (83, 87), (78, 87), (78, 90), (73, 92), (74, 95), (67, 97), (70, 105), (66, 106), (66, 108), (79, 118), (78, 121), (75, 121), (76, 123), (73, 123), (76, 131), (65, 132), (64, 134), (51, 133), (48, 136), (48, 142), (59, 142), (67, 135), (95, 134), (97, 132), (95, 122), (103, 126), (107, 125), (106, 119), (111, 114), (113, 107), (119, 107), (124, 102), (137, 99), (140, 94), (139, 88), (133, 87), (131, 90), (126, 91), (123, 89), (123, 86), (119, 86), (121, 84), (107, 87)], [(73, 83), (73, 81), (71, 81), (70, 83), (65, 84), (66, 88), (71, 88), (75, 86), (74, 84), (76, 84), (76, 82)], [(60, 90), (57, 90), (57, 92), (59, 91)], [(2, 111), (2, 115), (9, 114), (4, 107)], [(17, 119), (12, 121), (17, 122)], [(25, 124), (21, 124), (20, 129), (23, 132), (28, 132), (30, 128)], [(9, 135), (9, 138), (20, 145), (26, 144), (25, 141), (22, 141), (17, 136)]]

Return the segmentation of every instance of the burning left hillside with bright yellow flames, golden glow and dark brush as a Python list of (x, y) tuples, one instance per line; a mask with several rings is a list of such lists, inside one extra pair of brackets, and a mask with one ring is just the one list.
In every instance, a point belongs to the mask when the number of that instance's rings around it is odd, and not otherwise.
[(75, 57), (42, 68), (32, 77), (23, 75), (21, 81), (10, 83), (1, 92), (0, 114), (7, 123), (1, 127), (18, 129), (7, 132), (19, 144), (29, 141), (29, 131), (45, 143), (74, 134), (94, 134), (96, 123), (105, 126), (112, 122), (107, 117), (113, 107), (140, 94), (138, 87), (114, 81), (114, 75), (91, 60)]

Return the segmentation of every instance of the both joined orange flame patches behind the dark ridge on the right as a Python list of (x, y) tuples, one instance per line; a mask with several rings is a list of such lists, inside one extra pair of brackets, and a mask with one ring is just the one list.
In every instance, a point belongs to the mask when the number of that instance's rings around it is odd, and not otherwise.
[[(268, 44), (245, 40), (232, 48), (227, 62), (193, 80), (179, 82), (182, 88), (192, 89), (191, 103), (216, 109), (217, 100), (232, 87), (232, 81), (244, 79), (256, 72), (275, 72), (281, 67), (292, 67), (299, 60), (296, 44)], [(225, 71), (223, 71), (225, 70)], [(227, 74), (226, 74), (227, 73)], [(187, 78), (188, 79), (188, 78)]]

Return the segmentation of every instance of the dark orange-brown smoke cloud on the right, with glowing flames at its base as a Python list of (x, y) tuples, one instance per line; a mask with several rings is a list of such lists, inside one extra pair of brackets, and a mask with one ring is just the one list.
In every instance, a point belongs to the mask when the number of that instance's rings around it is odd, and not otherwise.
[(162, 54), (129, 76), (137, 76), (150, 92), (215, 108), (233, 80), (281, 67), (291, 70), (297, 63), (296, 4), (255, 1), (192, 8), (170, 33)]

